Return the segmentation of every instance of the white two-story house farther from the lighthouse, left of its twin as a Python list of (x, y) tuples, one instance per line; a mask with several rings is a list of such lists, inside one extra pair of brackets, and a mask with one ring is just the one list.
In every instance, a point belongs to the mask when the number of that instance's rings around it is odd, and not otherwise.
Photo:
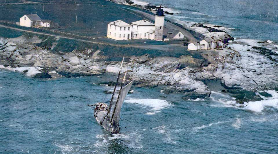
[(107, 38), (115, 40), (131, 39), (131, 28), (130, 24), (122, 20), (110, 22), (107, 26)]

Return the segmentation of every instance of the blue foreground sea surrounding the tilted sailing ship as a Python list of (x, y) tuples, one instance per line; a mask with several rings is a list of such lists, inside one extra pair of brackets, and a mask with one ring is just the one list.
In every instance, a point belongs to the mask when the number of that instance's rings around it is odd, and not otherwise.
[[(111, 136), (87, 104), (108, 101), (94, 85), (115, 76), (42, 80), (0, 71), (0, 153), (277, 153), (278, 110), (229, 105), (219, 93), (203, 101), (161, 88), (133, 88)], [(216, 87), (217, 88), (217, 87)], [(152, 99), (152, 100), (144, 100)], [(164, 101), (166, 100), (166, 101)], [(152, 106), (148, 103), (152, 102)], [(164, 105), (161, 105), (164, 104)]]

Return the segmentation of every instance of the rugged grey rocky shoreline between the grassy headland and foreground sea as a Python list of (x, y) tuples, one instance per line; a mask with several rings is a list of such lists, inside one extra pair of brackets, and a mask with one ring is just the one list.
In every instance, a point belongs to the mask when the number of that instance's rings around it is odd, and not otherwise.
[[(64, 54), (52, 53), (35, 44), (38, 37), (0, 39), (0, 69), (18, 71), (30, 77), (58, 78), (117, 73), (119, 61), (107, 61), (99, 50), (87, 49)], [(240, 41), (240, 40), (239, 40)], [(272, 50), (270, 50), (272, 49)], [(249, 91), (278, 90), (278, 51), (274, 43), (259, 42), (257, 46), (244, 41), (228, 48), (200, 52), (202, 59), (192, 56), (127, 57), (123, 71), (136, 80), (136, 86), (168, 85), (163, 93), (182, 92), (184, 100), (209, 97), (211, 91), (202, 82), (220, 79), (228, 89)]]

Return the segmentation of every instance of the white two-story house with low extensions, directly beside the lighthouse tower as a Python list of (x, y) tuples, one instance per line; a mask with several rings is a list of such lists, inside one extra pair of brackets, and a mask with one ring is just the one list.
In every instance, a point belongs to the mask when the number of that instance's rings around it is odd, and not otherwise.
[(154, 24), (147, 20), (131, 22), (132, 39), (154, 39)]

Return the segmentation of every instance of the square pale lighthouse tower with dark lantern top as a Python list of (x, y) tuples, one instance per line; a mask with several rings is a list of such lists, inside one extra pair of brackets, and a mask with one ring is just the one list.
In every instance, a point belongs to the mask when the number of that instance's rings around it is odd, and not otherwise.
[(156, 12), (156, 21), (154, 23), (154, 39), (156, 41), (162, 41), (163, 39), (164, 17), (164, 11), (160, 5)]

